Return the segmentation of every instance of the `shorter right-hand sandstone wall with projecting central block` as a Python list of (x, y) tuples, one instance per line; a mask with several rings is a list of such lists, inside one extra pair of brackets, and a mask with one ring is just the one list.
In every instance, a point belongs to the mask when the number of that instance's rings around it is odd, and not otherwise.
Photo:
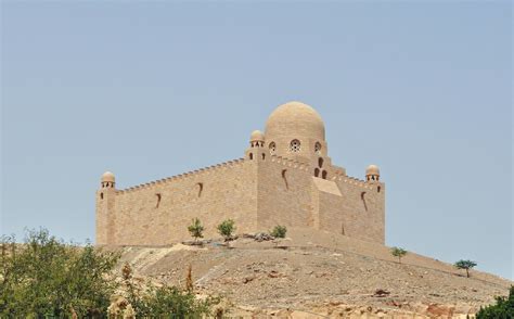
[[(313, 177), (316, 167), (326, 179)], [(385, 187), (343, 175), (329, 157), (309, 165), (272, 156), (258, 168), (258, 227), (312, 227), (385, 242)], [(378, 192), (378, 188), (381, 191)]]

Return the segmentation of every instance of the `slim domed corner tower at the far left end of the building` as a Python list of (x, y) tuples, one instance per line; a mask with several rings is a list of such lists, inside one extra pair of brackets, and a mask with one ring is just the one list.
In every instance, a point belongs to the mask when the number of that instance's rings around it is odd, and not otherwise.
[(105, 171), (102, 175), (100, 189), (97, 191), (97, 245), (113, 243), (115, 186), (114, 174)]

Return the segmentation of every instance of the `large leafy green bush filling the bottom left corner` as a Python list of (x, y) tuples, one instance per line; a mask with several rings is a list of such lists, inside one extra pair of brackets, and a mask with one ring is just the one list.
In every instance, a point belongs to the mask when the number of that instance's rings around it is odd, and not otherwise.
[(24, 245), (2, 237), (0, 245), (0, 317), (103, 316), (118, 254), (67, 245), (48, 230), (28, 231)]

